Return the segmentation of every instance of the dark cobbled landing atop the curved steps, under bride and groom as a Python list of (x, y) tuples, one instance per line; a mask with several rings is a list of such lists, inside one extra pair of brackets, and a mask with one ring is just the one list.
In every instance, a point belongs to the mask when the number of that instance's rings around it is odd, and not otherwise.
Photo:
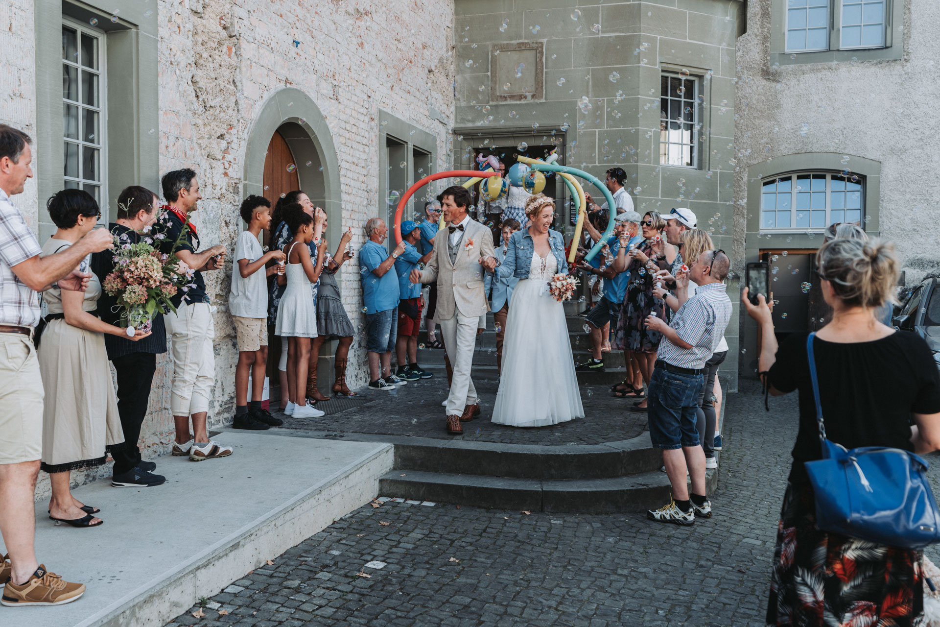
[[(361, 398), (365, 402), (323, 401), (318, 407), (327, 415), (319, 418), (277, 415), (284, 419), (285, 429), (325, 431), (331, 437), (341, 437), (344, 433), (377, 433), (449, 440), (455, 436), (445, 430), (441, 401), (447, 396), (446, 383), (445, 377), (434, 376), (409, 382), (391, 392), (362, 391), (361, 397), (352, 399)], [(481, 397), (482, 419), (475, 420), (472, 428), (466, 428), (462, 436), (457, 436), (463, 441), (543, 446), (594, 445), (626, 440), (646, 428), (646, 414), (627, 411), (633, 400), (616, 399), (607, 387), (584, 385), (581, 386), (584, 418), (541, 429), (496, 425), (490, 421), (496, 400), (496, 381), (475, 377), (474, 384)], [(534, 380), (533, 384), (538, 385), (538, 381)], [(336, 405), (347, 409), (334, 413), (333, 406)]]

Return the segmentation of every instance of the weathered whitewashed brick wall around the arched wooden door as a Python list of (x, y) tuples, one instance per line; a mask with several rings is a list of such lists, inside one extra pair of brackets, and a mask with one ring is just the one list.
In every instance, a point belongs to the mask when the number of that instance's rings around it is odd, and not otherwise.
[[(258, 111), (279, 89), (295, 87), (319, 106), (337, 151), (341, 181), (337, 234), (352, 227), (353, 246), (365, 242), (362, 226), (384, 212), (380, 202), (379, 110), (383, 109), (437, 139), (436, 169), (446, 166), (452, 123), (453, 58), (449, 0), (413, 3), (290, 3), (281, 0), (145, 0), (159, 23), (160, 171), (194, 167), (204, 200), (194, 223), (204, 244), (222, 243), (229, 252), (243, 228), (237, 207), (248, 133)], [(33, 3), (3, 0), (0, 44), (4, 70), (0, 121), (35, 134), (36, 64)], [(296, 41), (296, 43), (295, 43)], [(58, 71), (58, 69), (56, 69)], [(443, 114), (441, 113), (443, 112)], [(111, 115), (120, 115), (112, 112)], [(266, 138), (264, 143), (266, 145)], [(44, 172), (37, 155), (38, 176)], [(158, 173), (145, 184), (154, 185)], [(111, 196), (125, 184), (111, 181)], [(30, 224), (39, 216), (36, 186), (15, 198)], [(337, 225), (341, 222), (341, 225)], [(331, 249), (338, 242), (331, 243)], [(207, 273), (215, 313), (216, 394), (210, 424), (218, 428), (234, 413), (234, 330), (227, 313), (231, 266)], [(358, 264), (343, 267), (341, 289), (354, 326), (363, 322)], [(363, 338), (350, 354), (351, 386), (367, 382)], [(146, 455), (168, 450), (173, 437), (169, 414), (171, 365), (160, 358), (142, 443)], [(106, 468), (102, 468), (106, 472)]]

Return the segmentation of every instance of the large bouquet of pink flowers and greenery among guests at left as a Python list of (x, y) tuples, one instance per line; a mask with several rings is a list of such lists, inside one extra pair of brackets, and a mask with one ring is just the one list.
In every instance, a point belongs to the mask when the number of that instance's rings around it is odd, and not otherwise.
[[(177, 244), (185, 237), (183, 227)], [(149, 229), (149, 227), (148, 227)], [(115, 269), (104, 277), (102, 288), (117, 297), (122, 326), (127, 326), (127, 335), (133, 337), (134, 330), (147, 333), (156, 312), (176, 312), (170, 302), (179, 290), (186, 291), (193, 283), (196, 271), (184, 263), (176, 254), (168, 255), (154, 246), (164, 239), (162, 233), (145, 236), (132, 243), (126, 234), (115, 237)]]

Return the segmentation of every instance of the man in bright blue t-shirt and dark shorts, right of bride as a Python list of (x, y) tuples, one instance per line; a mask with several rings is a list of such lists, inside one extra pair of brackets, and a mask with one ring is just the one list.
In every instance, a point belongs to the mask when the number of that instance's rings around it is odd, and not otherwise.
[[(594, 268), (587, 263), (581, 266), (587, 274), (597, 274), (603, 277), (601, 300), (590, 310), (586, 319), (590, 328), (591, 359), (575, 367), (575, 369), (582, 371), (604, 371), (603, 359), (601, 358), (603, 343), (610, 337), (612, 331), (616, 333), (620, 305), (623, 303), (627, 283), (630, 281), (629, 272), (618, 273), (614, 270), (613, 259), (619, 253), (621, 239), (627, 242), (628, 247), (631, 243), (638, 243), (642, 239), (637, 235), (640, 228), (639, 213), (634, 211), (620, 212), (617, 214), (615, 221), (614, 236), (607, 241), (609, 250), (602, 253), (604, 261), (601, 267)], [(603, 238), (603, 233), (594, 228), (589, 221), (585, 220), (585, 225), (587, 225), (587, 233), (595, 242)], [(606, 334), (604, 334), (604, 329), (607, 329)], [(630, 367), (629, 360), (626, 361), (626, 365), (628, 368)], [(631, 378), (628, 375), (628, 379)]]

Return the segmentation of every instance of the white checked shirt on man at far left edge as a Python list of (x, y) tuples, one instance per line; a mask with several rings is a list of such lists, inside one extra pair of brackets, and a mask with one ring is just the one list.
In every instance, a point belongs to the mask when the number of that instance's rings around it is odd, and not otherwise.
[(42, 252), (23, 214), (0, 189), (0, 324), (36, 326), (39, 323), (39, 294), (13, 273), (13, 266)]

